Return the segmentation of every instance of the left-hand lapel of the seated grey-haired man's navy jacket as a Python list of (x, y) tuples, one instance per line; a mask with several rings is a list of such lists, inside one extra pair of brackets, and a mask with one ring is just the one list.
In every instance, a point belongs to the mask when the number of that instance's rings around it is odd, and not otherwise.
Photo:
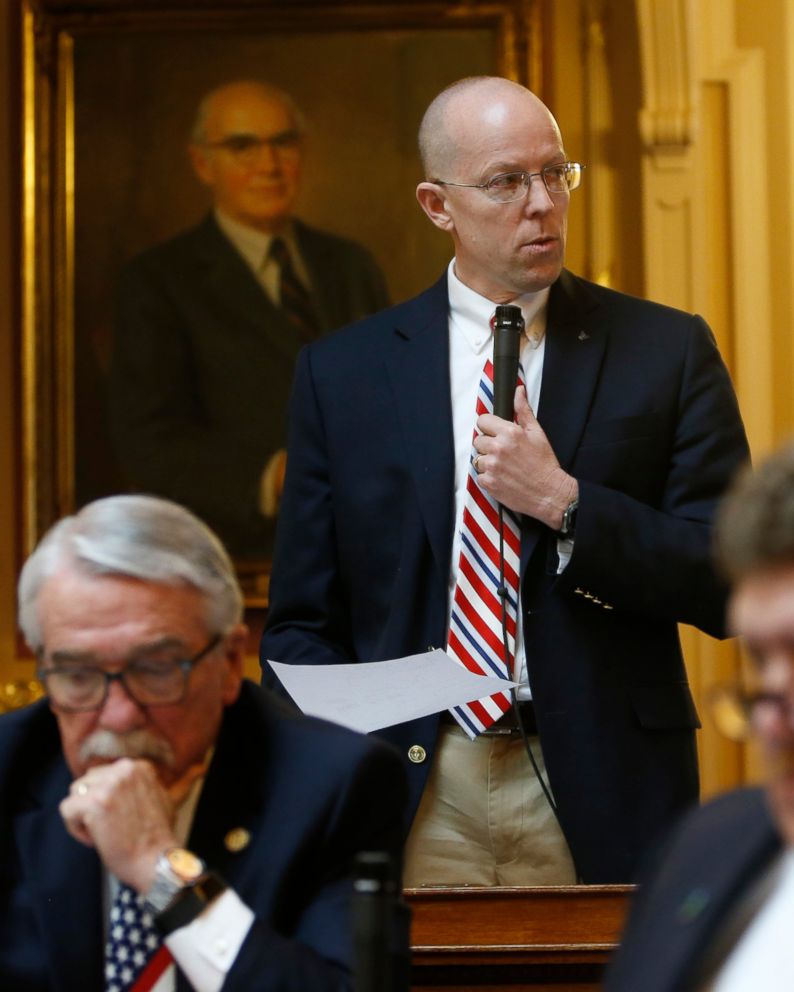
[[(54, 992), (103, 987), (102, 880), (96, 852), (74, 840), (58, 812), (70, 775), (57, 771), (39, 789), (35, 808), (15, 824), (23, 872), (30, 880), (33, 912), (46, 947)], [(38, 793), (38, 794), (36, 794)]]

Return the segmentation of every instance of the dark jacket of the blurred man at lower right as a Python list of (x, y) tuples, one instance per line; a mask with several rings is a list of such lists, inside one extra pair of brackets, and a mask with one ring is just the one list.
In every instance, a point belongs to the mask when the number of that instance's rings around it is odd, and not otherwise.
[(782, 840), (760, 789), (693, 811), (649, 859), (604, 992), (688, 992)]

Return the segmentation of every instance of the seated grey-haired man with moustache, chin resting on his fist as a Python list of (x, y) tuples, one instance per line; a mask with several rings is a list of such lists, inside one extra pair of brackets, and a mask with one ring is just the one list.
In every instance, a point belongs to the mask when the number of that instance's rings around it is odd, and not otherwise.
[[(349, 990), (353, 862), (398, 866), (399, 758), (242, 680), (234, 574), (181, 507), (112, 497), (54, 532), (20, 583), (52, 709), (0, 718), (0, 987), (105, 988), (110, 877), (153, 899), (165, 871), (179, 989)], [(164, 703), (174, 671), (184, 695)], [(180, 902), (173, 846), (228, 888)]]

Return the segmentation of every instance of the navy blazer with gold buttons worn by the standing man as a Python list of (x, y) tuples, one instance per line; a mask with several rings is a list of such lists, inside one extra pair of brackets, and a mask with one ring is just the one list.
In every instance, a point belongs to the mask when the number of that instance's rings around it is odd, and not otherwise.
[[(723, 633), (711, 521), (747, 443), (700, 318), (567, 272), (549, 299), (538, 418), (580, 490), (561, 576), (556, 535), (523, 520), (540, 738), (581, 877), (628, 881), (652, 833), (698, 794), (676, 625)], [(302, 352), (263, 661), (445, 644), (453, 461), (446, 277)], [(383, 736), (432, 754), (438, 719)], [(414, 809), (428, 766), (410, 766)]]

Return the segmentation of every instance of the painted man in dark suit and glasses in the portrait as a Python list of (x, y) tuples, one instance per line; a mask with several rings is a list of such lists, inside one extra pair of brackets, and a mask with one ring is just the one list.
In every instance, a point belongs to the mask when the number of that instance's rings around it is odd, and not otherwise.
[(233, 555), (261, 558), (297, 353), (388, 295), (366, 249), (295, 218), (305, 128), (287, 93), (252, 81), (213, 90), (189, 152), (213, 209), (124, 272), (113, 432), (134, 488), (189, 506)]

